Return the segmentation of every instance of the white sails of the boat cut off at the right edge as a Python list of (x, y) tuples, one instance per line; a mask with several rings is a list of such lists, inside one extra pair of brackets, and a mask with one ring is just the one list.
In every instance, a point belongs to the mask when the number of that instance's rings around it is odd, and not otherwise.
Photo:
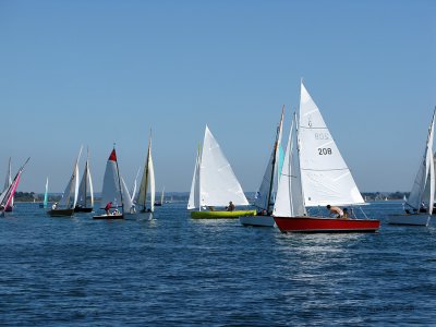
[[(428, 128), (427, 142), (425, 145), (424, 156), (421, 160), (416, 178), (413, 182), (412, 191), (410, 192), (407, 204), (419, 210), (422, 202), (427, 202), (429, 213), (433, 210), (435, 196), (435, 167), (433, 160), (433, 137), (434, 137), (435, 112), (433, 113), (432, 123)], [(428, 185), (427, 185), (428, 183)], [(427, 185), (427, 187), (426, 187)], [(426, 189), (428, 190), (426, 192)], [(428, 197), (424, 198), (424, 195)]]

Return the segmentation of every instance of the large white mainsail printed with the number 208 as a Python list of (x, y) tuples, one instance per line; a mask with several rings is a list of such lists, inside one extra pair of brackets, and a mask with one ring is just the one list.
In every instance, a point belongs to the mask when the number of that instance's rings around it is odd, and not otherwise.
[(306, 206), (362, 204), (364, 199), (303, 83), (300, 98), (300, 169)]

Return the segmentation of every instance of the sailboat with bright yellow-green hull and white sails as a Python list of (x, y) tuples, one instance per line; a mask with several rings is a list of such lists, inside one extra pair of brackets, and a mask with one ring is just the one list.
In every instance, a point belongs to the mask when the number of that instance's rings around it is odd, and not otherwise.
[[(215, 207), (249, 205), (229, 161), (206, 125), (203, 152), (197, 152), (187, 209), (192, 218), (238, 218), (253, 216), (256, 210), (215, 210)], [(209, 210), (202, 210), (208, 207)]]

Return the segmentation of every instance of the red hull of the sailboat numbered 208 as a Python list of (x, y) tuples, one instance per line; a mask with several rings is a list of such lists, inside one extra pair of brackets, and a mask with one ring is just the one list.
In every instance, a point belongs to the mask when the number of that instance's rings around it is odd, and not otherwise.
[(337, 219), (327, 217), (274, 217), (281, 232), (376, 232), (379, 220)]

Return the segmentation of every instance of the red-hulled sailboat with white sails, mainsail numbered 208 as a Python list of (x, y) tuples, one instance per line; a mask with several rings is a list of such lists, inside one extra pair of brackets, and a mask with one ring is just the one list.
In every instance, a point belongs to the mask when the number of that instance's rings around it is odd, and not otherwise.
[[(351, 219), (307, 215), (305, 207), (352, 206), (363, 204), (364, 201), (318, 107), (303, 83), (301, 83), (300, 117), (295, 133), (298, 146), (290, 145), (292, 144), (290, 135), (272, 214), (280, 231), (377, 231), (380, 226), (379, 220), (358, 219), (354, 214)], [(292, 164), (295, 160), (298, 165)]]

